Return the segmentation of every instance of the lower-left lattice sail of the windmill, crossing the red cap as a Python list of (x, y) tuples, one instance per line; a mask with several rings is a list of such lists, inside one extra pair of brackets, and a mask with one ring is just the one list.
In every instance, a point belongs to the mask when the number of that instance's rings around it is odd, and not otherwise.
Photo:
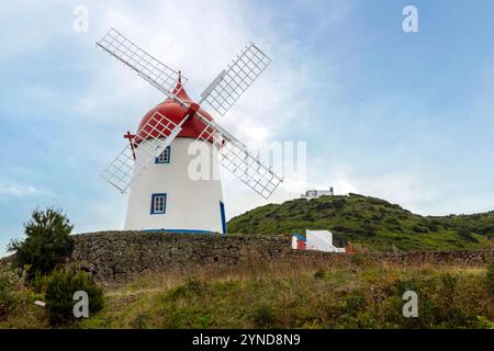
[(136, 138), (131, 141), (134, 143), (135, 149), (131, 145), (125, 146), (104, 169), (101, 177), (122, 193), (126, 193), (132, 183), (149, 167), (156, 155), (162, 152), (181, 129), (180, 125), (155, 111), (146, 124), (137, 131)]

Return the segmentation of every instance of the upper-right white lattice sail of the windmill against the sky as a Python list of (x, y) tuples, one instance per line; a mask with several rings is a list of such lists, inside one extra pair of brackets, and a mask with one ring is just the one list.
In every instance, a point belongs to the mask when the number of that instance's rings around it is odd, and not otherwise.
[(202, 102), (224, 115), (270, 63), (271, 59), (250, 43), (202, 92)]

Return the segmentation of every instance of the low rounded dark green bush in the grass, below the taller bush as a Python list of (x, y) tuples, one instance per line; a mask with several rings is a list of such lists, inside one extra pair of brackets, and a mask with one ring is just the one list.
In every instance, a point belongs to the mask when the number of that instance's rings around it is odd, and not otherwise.
[(103, 290), (85, 272), (56, 270), (46, 281), (46, 308), (49, 322), (60, 325), (75, 319), (74, 294), (77, 291), (88, 293), (89, 313), (103, 308)]

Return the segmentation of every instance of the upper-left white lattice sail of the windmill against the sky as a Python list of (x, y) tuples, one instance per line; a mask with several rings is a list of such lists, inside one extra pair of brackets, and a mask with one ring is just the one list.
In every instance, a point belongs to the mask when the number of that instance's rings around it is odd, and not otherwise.
[[(168, 97), (173, 94), (179, 73), (139, 48), (115, 29), (110, 29), (97, 45), (131, 67)], [(181, 76), (181, 81), (183, 87), (188, 79)]]

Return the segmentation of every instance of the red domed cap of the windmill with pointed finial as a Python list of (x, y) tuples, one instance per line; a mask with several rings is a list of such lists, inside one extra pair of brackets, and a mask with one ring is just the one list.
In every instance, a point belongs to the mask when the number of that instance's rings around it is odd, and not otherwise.
[[(181, 79), (181, 72), (179, 71), (179, 79), (177, 82), (177, 87), (173, 90), (173, 94), (176, 94), (181, 101), (183, 101), (187, 104), (195, 104), (195, 102), (187, 94), (186, 90), (182, 87), (182, 79)], [(177, 102), (175, 102), (172, 99), (167, 99), (164, 102), (156, 105), (153, 110), (150, 110), (146, 115), (143, 117), (143, 120), (139, 123), (139, 126), (137, 127), (137, 131), (141, 131), (146, 123), (149, 122), (149, 120), (158, 118), (158, 121), (150, 121), (150, 125), (156, 126), (156, 129), (151, 132), (153, 137), (159, 137), (159, 136), (168, 136), (170, 131), (165, 129), (162, 124), (167, 124), (167, 121), (159, 115), (156, 114), (158, 112), (162, 116), (167, 117), (175, 124), (178, 124), (183, 117), (186, 116), (188, 109), (180, 106)], [(201, 115), (203, 115), (209, 121), (213, 120), (211, 115), (204, 111), (203, 109), (199, 109), (199, 112)], [(162, 124), (160, 123), (162, 121)], [(182, 131), (177, 137), (182, 138), (198, 138), (201, 134), (201, 132), (204, 129), (205, 125), (201, 120), (199, 120), (197, 116), (190, 117), (188, 121), (186, 121), (182, 125)], [(141, 137), (141, 138), (139, 138)], [(147, 138), (150, 136), (147, 135)], [(139, 139), (146, 138), (146, 134), (144, 132), (141, 132), (141, 134), (137, 136), (137, 143)]]

